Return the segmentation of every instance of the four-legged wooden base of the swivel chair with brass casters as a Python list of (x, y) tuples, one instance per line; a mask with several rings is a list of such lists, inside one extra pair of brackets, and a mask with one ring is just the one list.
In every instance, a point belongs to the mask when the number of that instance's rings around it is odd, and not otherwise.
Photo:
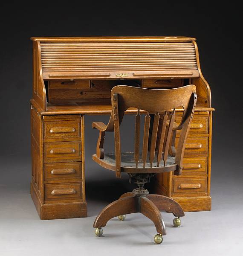
[[(174, 216), (174, 226), (180, 225), (179, 217), (184, 216), (182, 207), (173, 199), (163, 195), (136, 195), (133, 192), (123, 194), (118, 200), (107, 207), (104, 207), (95, 219), (93, 227), (95, 234), (102, 235), (104, 227), (111, 218), (122, 216), (129, 213), (141, 212), (143, 215), (153, 221), (158, 234), (155, 236), (156, 243), (162, 242), (162, 235), (166, 235), (165, 223), (159, 210), (172, 212)], [(97, 235), (96, 234), (96, 235)]]

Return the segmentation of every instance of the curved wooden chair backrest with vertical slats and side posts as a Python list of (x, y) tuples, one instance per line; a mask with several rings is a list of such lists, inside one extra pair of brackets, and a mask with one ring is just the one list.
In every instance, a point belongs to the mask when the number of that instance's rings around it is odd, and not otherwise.
[[(120, 177), (121, 166), (121, 147), (119, 126), (122, 123), (124, 111), (127, 108), (137, 108), (135, 116), (135, 143), (134, 143), (134, 160), (136, 167), (139, 161), (143, 166), (148, 157), (150, 167), (156, 156), (157, 166), (161, 160), (166, 164), (169, 147), (171, 145), (173, 131), (182, 130), (180, 133), (179, 143), (176, 150), (176, 164), (178, 169), (175, 174), (179, 175), (182, 170), (182, 158), (185, 149), (185, 140), (188, 135), (189, 125), (194, 113), (194, 107), (197, 101), (195, 85), (187, 85), (174, 89), (145, 89), (119, 85), (111, 90), (112, 114), (110, 119), (110, 131), (114, 131), (115, 136), (115, 153), (116, 153), (116, 176)], [(175, 109), (182, 107), (184, 113), (181, 123), (176, 125)], [(141, 113), (145, 112), (144, 134), (142, 142), (142, 159), (139, 159), (139, 142), (140, 142), (140, 122)], [(153, 118), (151, 118), (151, 116)], [(153, 121), (153, 122), (152, 122)], [(160, 125), (160, 127), (159, 127)], [(157, 152), (157, 154), (155, 154)]]

